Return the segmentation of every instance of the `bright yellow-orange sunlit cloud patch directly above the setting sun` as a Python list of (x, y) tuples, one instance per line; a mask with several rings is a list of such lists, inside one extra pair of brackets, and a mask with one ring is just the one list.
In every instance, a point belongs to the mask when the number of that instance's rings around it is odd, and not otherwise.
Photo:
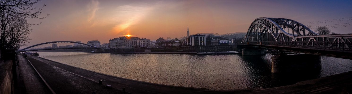
[(142, 4), (142, 6), (139, 4), (138, 6), (124, 5), (117, 7), (116, 15), (113, 17), (113, 20), (117, 21), (118, 24), (113, 27), (113, 33), (117, 34), (122, 31), (129, 33), (128, 27), (143, 19), (144, 16), (152, 10), (153, 7), (148, 6), (148, 4)]

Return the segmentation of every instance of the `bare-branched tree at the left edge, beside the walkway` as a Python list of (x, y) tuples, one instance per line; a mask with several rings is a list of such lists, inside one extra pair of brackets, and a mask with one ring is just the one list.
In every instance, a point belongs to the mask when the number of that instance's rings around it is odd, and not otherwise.
[(27, 18), (44, 19), (49, 15), (40, 17), (46, 5), (42, 8), (33, 7), (38, 1), (40, 0), (0, 0), (0, 60), (3, 59), (4, 49), (18, 49), (31, 40), (28, 34), (32, 31), (30, 26), (35, 24), (27, 23)]

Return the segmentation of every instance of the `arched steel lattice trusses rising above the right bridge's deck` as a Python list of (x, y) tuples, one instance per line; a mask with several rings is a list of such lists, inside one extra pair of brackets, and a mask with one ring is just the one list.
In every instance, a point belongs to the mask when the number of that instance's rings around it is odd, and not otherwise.
[(295, 20), (284, 18), (257, 18), (248, 28), (244, 42), (297, 41), (296, 36), (307, 35), (318, 34)]

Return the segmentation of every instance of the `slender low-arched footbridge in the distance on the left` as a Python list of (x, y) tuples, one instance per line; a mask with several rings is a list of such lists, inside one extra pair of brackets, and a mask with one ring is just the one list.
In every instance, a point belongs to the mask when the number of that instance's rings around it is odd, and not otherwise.
[[(82, 45), (87, 45), (87, 46), (89, 46), (89, 47), (64, 47), (64, 48), (28, 49), (28, 48), (35, 47), (35, 46), (39, 46), (39, 45), (45, 45), (45, 44), (49, 44), (49, 43), (59, 43), (59, 42), (79, 43), (79, 44), (82, 44)], [(29, 46), (29, 47), (26, 47), (26, 48), (23, 48), (23, 49), (19, 50), (18, 52), (40, 51), (40, 50), (51, 50), (51, 49), (82, 49), (82, 48), (99, 49), (99, 48), (94, 47), (94, 46), (92, 46), (92, 45), (88, 45), (88, 44), (86, 44), (86, 43), (81, 43), (81, 42), (74, 42), (74, 41), (52, 41), (52, 42), (39, 43), (39, 44), (36, 44), (36, 45), (33, 45), (33, 46)], [(26, 49), (28, 49), (28, 50), (26, 50)]]

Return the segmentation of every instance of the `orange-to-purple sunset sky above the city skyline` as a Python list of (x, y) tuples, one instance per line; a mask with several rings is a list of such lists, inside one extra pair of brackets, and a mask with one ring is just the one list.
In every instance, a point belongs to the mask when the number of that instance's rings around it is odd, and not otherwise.
[[(352, 22), (351, 0), (42, 0), (34, 6), (43, 5), (41, 16), (49, 16), (28, 19), (40, 23), (31, 26), (28, 46), (50, 41), (102, 44), (127, 34), (180, 38), (187, 35), (187, 27), (190, 34), (247, 32), (261, 17), (313, 22), (304, 24), (312, 27)], [(315, 23), (333, 19), (343, 21)], [(352, 33), (352, 26), (330, 29)]]

